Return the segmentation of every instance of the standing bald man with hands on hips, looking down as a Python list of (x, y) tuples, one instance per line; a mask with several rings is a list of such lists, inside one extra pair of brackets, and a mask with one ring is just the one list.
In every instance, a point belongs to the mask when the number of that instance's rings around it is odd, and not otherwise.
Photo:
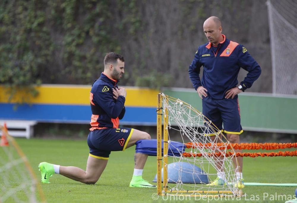
[[(189, 66), (189, 77), (193, 87), (202, 99), (202, 111), (219, 132), (209, 130), (206, 135), (214, 140), (222, 132), (227, 134), (230, 143), (240, 143), (239, 135), (243, 132), (240, 124), (238, 94), (250, 88), (260, 76), (261, 68), (247, 49), (241, 44), (230, 41), (222, 34), (222, 24), (218, 17), (209, 17), (203, 24), (203, 31), (208, 43), (198, 47), (194, 60)], [(203, 76), (200, 80), (200, 67)], [(247, 76), (238, 84), (240, 68), (248, 71)], [(224, 130), (223, 130), (224, 124)], [(241, 152), (242, 150), (235, 150)], [(242, 176), (242, 157), (233, 159), (236, 168), (235, 187), (244, 188)], [(217, 179), (210, 185), (225, 185), (226, 178), (222, 163), (217, 163)]]

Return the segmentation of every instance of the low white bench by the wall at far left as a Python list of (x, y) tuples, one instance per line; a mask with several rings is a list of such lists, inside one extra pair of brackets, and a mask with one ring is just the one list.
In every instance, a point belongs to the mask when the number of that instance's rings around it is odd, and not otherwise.
[[(24, 121), (24, 120), (0, 120), (0, 125), (6, 123), (8, 133), (13, 137), (26, 137), (29, 139), (34, 134), (33, 126), (37, 121)], [(1, 132), (2, 135), (2, 132)]]

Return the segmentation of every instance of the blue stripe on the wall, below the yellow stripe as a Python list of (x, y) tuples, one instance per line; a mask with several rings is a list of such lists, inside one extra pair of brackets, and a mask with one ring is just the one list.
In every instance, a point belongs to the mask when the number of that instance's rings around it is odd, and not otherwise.
[[(36, 120), (38, 122), (90, 123), (91, 108), (85, 105), (20, 105), (14, 110), (15, 104), (0, 103), (0, 119), (5, 120)], [(120, 124), (157, 123), (155, 108), (126, 107), (126, 113)]]

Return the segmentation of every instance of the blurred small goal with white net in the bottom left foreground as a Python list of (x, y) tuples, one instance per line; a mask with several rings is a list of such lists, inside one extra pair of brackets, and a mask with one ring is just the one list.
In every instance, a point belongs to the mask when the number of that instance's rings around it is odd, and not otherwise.
[[(37, 200), (37, 179), (26, 156), (7, 130), (0, 126), (0, 132), (8, 141), (0, 146), (0, 202), (41, 202)], [(42, 202), (45, 202), (41, 188), (38, 188)]]

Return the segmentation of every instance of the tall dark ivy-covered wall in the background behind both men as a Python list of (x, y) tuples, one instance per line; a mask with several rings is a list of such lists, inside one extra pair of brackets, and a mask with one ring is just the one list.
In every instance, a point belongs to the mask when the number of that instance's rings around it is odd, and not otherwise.
[(112, 51), (126, 61), (120, 85), (192, 87), (188, 66), (211, 15), (260, 63), (265, 80), (251, 91), (271, 92), (265, 0), (2, 0), (0, 83), (92, 84)]

